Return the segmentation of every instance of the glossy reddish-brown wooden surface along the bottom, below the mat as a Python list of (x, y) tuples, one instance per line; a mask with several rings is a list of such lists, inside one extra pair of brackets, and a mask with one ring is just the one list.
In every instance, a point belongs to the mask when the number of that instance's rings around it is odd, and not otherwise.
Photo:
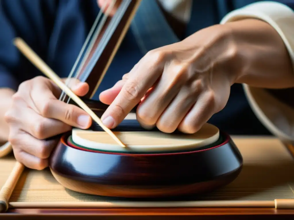
[[(238, 137), (233, 137), (233, 139)], [(244, 138), (244, 137), (242, 137)], [(248, 137), (250, 138), (250, 137)], [(256, 138), (256, 137), (255, 137)], [(261, 138), (261, 137), (260, 137)], [(252, 141), (252, 140), (251, 140)], [(91, 208), (9, 209), (4, 219), (294, 219), (294, 209), (274, 208)]]

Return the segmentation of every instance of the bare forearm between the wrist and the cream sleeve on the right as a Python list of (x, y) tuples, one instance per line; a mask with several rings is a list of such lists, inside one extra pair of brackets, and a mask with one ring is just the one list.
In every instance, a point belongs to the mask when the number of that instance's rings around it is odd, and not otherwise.
[(278, 32), (258, 19), (244, 19), (225, 24), (240, 56), (240, 72), (236, 83), (254, 87), (294, 87), (293, 64)]

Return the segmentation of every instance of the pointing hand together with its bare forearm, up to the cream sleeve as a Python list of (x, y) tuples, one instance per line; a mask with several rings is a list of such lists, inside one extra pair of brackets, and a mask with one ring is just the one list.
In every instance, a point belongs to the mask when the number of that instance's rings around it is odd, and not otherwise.
[(194, 133), (225, 107), (233, 83), (294, 86), (288, 52), (269, 24), (248, 19), (215, 25), (148, 52), (100, 94), (110, 104), (102, 120), (116, 127), (141, 100), (137, 119), (142, 126)]

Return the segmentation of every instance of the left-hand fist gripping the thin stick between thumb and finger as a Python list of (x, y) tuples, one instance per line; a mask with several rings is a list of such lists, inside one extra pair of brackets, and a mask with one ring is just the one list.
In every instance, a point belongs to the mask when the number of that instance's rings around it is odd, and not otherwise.
[[(69, 87), (78, 96), (88, 92), (88, 84), (71, 81)], [(42, 170), (58, 143), (53, 139), (72, 126), (86, 129), (90, 116), (78, 106), (59, 100), (61, 90), (50, 79), (35, 77), (20, 84), (5, 114), (9, 142), (16, 160), (31, 169)], [(50, 139), (51, 138), (51, 139)]]

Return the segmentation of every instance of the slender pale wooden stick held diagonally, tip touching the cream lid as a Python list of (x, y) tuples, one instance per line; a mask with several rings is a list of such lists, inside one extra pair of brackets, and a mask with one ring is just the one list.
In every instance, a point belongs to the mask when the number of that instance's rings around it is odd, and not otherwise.
[(14, 39), (14, 45), (37, 67), (44, 75), (55, 82), (59, 88), (61, 88), (71, 99), (73, 99), (83, 110), (85, 110), (92, 119), (103, 128), (119, 145), (125, 147), (125, 145), (116, 137), (116, 135), (107, 128), (98, 118), (98, 116), (76, 95), (69, 87), (67, 87), (58, 75), (43, 61), (41, 58), (27, 45), (21, 38)]

